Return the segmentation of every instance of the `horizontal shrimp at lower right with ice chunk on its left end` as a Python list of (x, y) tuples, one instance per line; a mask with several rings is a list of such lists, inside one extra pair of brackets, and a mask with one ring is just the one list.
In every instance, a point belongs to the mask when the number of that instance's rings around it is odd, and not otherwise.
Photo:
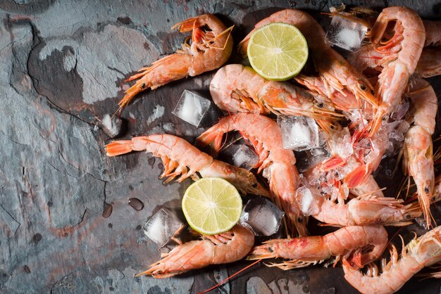
[(418, 205), (403, 205), (403, 200), (374, 194), (353, 198), (347, 203), (335, 203), (316, 188), (305, 186), (296, 192), (296, 200), (306, 216), (336, 226), (383, 224), (405, 226), (421, 215)]

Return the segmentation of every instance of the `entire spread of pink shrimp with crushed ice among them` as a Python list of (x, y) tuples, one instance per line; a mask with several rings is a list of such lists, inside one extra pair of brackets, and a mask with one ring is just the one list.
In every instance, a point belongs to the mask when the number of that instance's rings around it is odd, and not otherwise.
[[(126, 91), (120, 109), (147, 88), (218, 69), (209, 89), (213, 102), (228, 115), (206, 129), (195, 146), (178, 136), (150, 134), (108, 143), (106, 153), (147, 151), (163, 161), (166, 182), (222, 177), (243, 194), (265, 196), (285, 212), (287, 236), (255, 244), (253, 231), (237, 224), (223, 234), (178, 243), (139, 275), (166, 278), (243, 258), (275, 259), (266, 265), (283, 270), (341, 263), (344, 278), (362, 293), (394, 293), (424, 267), (441, 262), (441, 226), (430, 210), (441, 200), (441, 174), (435, 177), (440, 153), (434, 154), (432, 139), (437, 96), (425, 80), (441, 74), (441, 22), (421, 20), (403, 6), (379, 13), (342, 7), (328, 15), (368, 27), (361, 48), (347, 58), (328, 44), (311, 15), (294, 9), (264, 18), (238, 44), (238, 53), (246, 58), (249, 38), (259, 27), (288, 23), (299, 28), (311, 66), (291, 81), (268, 81), (242, 64), (223, 66), (233, 49), (232, 27), (208, 14), (176, 25), (192, 32), (182, 49), (128, 79), (138, 81)], [(321, 148), (330, 154), (302, 173), (297, 153), (283, 148), (275, 122), (277, 116), (292, 115), (315, 120), (324, 138)], [(239, 132), (258, 155), (251, 171), (215, 159), (231, 132)], [(407, 175), (407, 186), (400, 186), (396, 198), (383, 195), (385, 187), (374, 177), (382, 160), (392, 157), (402, 162)], [(311, 218), (339, 229), (309, 236)], [(398, 235), (399, 256), (392, 245), (397, 238), (392, 240), (385, 226), (407, 226), (415, 219), (427, 233), (407, 245)], [(383, 258), (379, 270), (375, 260), (386, 248), (390, 261)]]

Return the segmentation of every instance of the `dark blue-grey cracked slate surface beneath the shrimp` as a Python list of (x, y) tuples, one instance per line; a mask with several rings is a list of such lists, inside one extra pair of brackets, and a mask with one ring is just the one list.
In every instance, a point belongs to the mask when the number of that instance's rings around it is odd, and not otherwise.
[[(280, 8), (328, 11), (340, 1), (0, 2), (0, 292), (197, 293), (247, 262), (170, 279), (134, 278), (159, 259), (142, 224), (161, 205), (177, 209), (190, 180), (163, 185), (160, 160), (144, 153), (107, 158), (101, 118), (116, 110), (123, 80), (180, 47), (170, 27), (216, 13), (240, 40)], [(346, 1), (366, 4), (365, 1)], [(371, 1), (372, 7), (408, 1)], [(413, 1), (423, 18), (440, 19), (439, 1)], [(321, 23), (325, 17), (315, 14)], [(230, 62), (240, 62), (233, 55)], [(171, 115), (183, 89), (205, 91), (212, 72), (140, 95), (121, 118), (123, 136), (165, 132), (192, 141), (194, 128)], [(440, 79), (431, 79), (437, 94)], [(136, 197), (146, 205), (128, 205)], [(104, 203), (113, 205), (108, 218)], [(416, 227), (414, 229), (417, 229)], [(437, 293), (434, 279), (402, 293)], [(255, 266), (217, 293), (356, 293), (338, 268), (280, 271)]]

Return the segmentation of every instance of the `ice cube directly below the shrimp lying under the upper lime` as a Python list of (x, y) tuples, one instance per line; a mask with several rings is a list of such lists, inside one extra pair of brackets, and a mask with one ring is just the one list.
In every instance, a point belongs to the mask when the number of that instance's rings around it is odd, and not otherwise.
[(277, 120), (282, 129), (283, 148), (304, 151), (319, 146), (318, 127), (312, 118), (294, 115), (279, 116)]

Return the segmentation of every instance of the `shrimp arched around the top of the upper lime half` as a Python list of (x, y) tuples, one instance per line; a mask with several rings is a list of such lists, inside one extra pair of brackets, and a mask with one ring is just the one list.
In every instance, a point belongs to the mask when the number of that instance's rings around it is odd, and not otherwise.
[[(373, 87), (368, 79), (352, 68), (339, 53), (330, 48), (325, 41), (323, 28), (311, 15), (304, 11), (285, 9), (261, 20), (255, 25), (254, 30), (240, 42), (239, 52), (246, 55), (249, 38), (255, 30), (263, 25), (268, 25), (268, 23), (276, 22), (295, 25), (302, 32), (311, 49), (311, 57), (318, 75), (324, 84), (322, 93), (330, 95), (328, 97), (335, 102), (336, 107), (338, 106), (341, 110), (353, 108), (355, 105), (354, 99), (356, 99), (356, 108), (360, 108), (359, 102), (361, 100), (377, 106), (377, 101), (371, 94)], [(299, 77), (297, 82), (302, 84), (302, 78)], [(327, 91), (326, 89), (330, 90)], [(342, 96), (347, 96), (347, 103), (342, 101), (340, 97), (334, 99), (331, 94), (335, 91), (340, 92)]]

